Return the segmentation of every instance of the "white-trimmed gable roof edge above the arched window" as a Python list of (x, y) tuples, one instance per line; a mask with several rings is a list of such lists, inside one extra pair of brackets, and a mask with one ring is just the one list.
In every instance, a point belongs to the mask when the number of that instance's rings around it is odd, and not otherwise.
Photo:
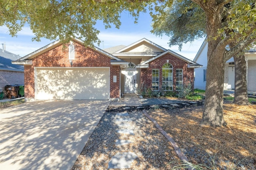
[(198, 67), (202, 67), (202, 65), (198, 64), (198, 63), (195, 63), (194, 61), (190, 60), (190, 59), (187, 59), (186, 57), (183, 57), (182, 55), (179, 55), (178, 53), (175, 53), (174, 51), (171, 51), (171, 50), (166, 50), (164, 53), (161, 53), (160, 55), (157, 55), (155, 57), (152, 57), (151, 59), (147, 60), (147, 61), (144, 61), (140, 64), (137, 65), (138, 68), (145, 68), (145, 66), (148, 65), (149, 62), (167, 54), (167, 53), (170, 53), (171, 55), (174, 55), (175, 57), (178, 57), (179, 59), (182, 59), (183, 61), (186, 61), (188, 63), (188, 67), (189, 68), (198, 68)]

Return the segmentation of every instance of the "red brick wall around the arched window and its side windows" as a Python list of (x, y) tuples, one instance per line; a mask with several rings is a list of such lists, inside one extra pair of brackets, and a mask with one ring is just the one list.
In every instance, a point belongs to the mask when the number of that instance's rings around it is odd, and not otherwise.
[[(167, 62), (168, 61), (168, 62)], [(165, 63), (172, 64), (172, 72), (173, 72), (173, 90), (176, 90), (176, 69), (182, 68), (183, 69), (183, 85), (191, 83), (192, 88), (194, 88), (194, 68), (188, 68), (187, 62), (171, 55), (165, 54), (154, 61), (149, 63), (148, 68), (141, 69), (141, 80), (140, 83), (146, 86), (147, 88), (152, 88), (152, 69), (158, 68), (159, 69), (159, 88), (162, 88), (162, 66)]]

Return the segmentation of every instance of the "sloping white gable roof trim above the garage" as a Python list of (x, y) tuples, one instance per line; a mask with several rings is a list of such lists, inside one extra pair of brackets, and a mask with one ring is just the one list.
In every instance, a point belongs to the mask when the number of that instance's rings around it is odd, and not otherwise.
[[(84, 41), (82, 41), (80, 39), (76, 39), (76, 38), (72, 38), (72, 39), (74, 41), (78, 41), (79, 43), (84, 43)], [(38, 55), (40, 55), (40, 54), (42, 54), (42, 53), (44, 53), (44, 52), (54, 48), (54, 47), (57, 47), (60, 44), (62, 44), (62, 42), (60, 40), (56, 40), (56, 41), (54, 41), (54, 42), (52, 42), (52, 43), (50, 43), (50, 44), (48, 44), (48, 45), (46, 45), (46, 46), (44, 46), (44, 47), (42, 47), (42, 48), (40, 48), (38, 50), (32, 52), (32, 53), (30, 53), (30, 54), (28, 54), (28, 55), (26, 55), (26, 56), (16, 60), (16, 61), (13, 61), (12, 63), (13, 64), (22, 64), (22, 65), (31, 65), (32, 64), (32, 59), (34, 57), (36, 57), (36, 56), (38, 56)], [(115, 57), (115, 56), (111, 55), (110, 53), (108, 53), (108, 52), (106, 52), (106, 51), (104, 51), (104, 50), (102, 50), (102, 49), (100, 49), (98, 47), (94, 46), (94, 47), (89, 47), (89, 48), (92, 48), (92, 49), (98, 51), (99, 53), (102, 53), (102, 54), (110, 57), (112, 60), (122, 61), (118, 57)]]

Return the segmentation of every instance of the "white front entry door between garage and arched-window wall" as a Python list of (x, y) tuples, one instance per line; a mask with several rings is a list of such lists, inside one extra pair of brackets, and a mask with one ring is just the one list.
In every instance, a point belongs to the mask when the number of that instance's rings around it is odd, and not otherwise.
[(136, 68), (125, 71), (125, 82), (124, 82), (125, 93), (136, 93), (136, 90), (138, 87), (136, 77), (137, 77)]

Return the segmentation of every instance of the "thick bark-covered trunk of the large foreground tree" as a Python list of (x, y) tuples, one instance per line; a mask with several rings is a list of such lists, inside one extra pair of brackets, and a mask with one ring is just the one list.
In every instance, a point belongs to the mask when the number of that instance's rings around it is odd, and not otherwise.
[[(204, 111), (200, 125), (226, 126), (223, 119), (224, 52), (226, 45), (217, 36), (222, 27), (224, 0), (197, 1), (206, 13), (206, 32), (208, 39), (206, 94)], [(205, 4), (206, 3), (206, 4)], [(220, 3), (220, 4), (219, 4)]]

